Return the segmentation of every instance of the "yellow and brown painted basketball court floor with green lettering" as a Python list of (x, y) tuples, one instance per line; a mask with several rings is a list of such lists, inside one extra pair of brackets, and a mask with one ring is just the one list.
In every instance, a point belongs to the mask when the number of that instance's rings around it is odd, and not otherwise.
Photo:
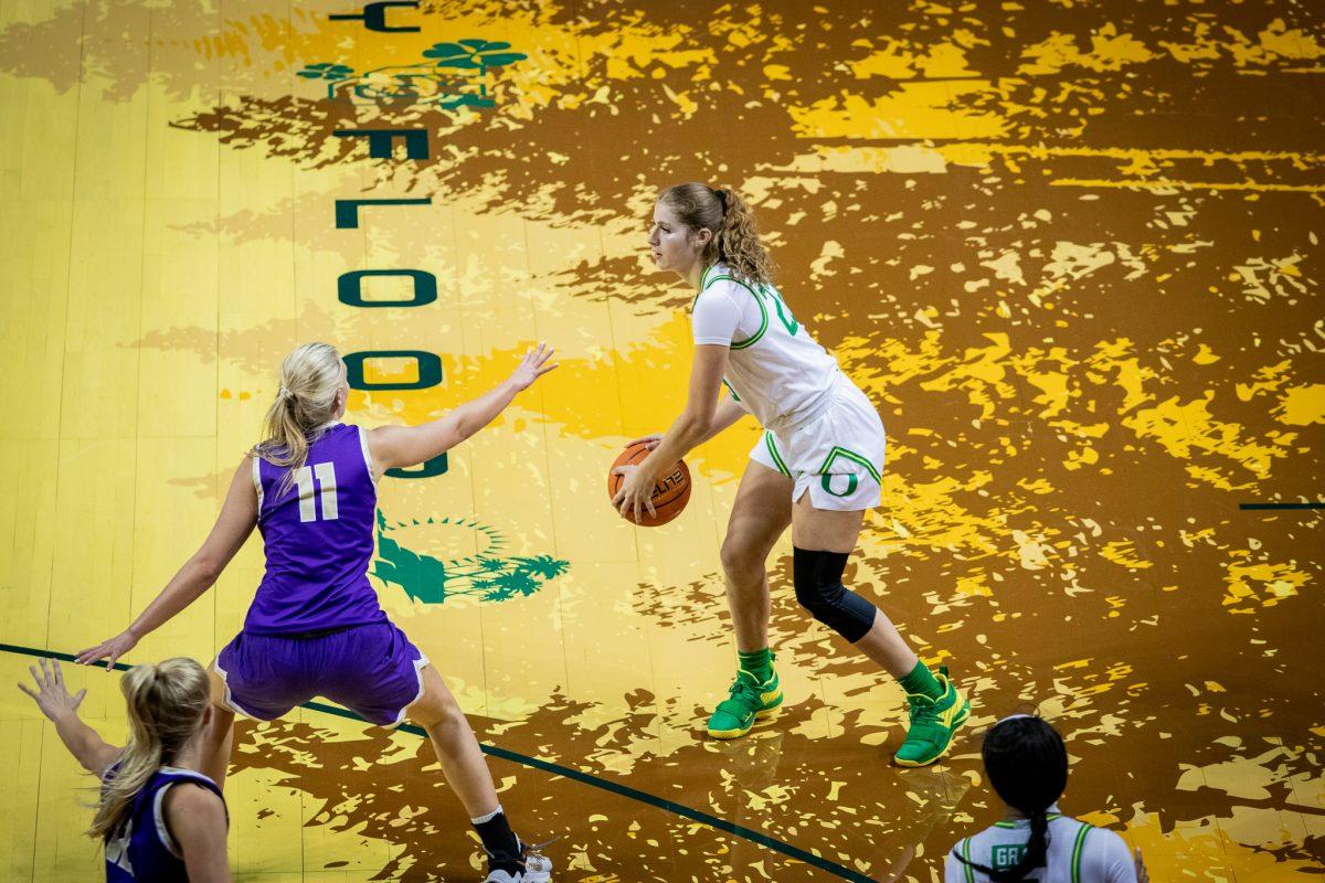
[[(372, 579), (558, 880), (921, 880), (999, 818), (1037, 710), (1063, 809), (1153, 880), (1325, 872), (1325, 8), (1314, 0), (0, 0), (0, 879), (91, 880), (94, 782), (12, 684), (201, 541), (293, 346), (417, 422), (562, 367), (383, 482)], [(370, 135), (367, 130), (378, 134)], [(876, 402), (848, 581), (974, 700), (902, 770), (901, 691), (770, 559), (783, 715), (702, 735), (747, 420), (636, 530), (624, 441), (681, 408), (693, 293), (653, 199), (730, 184)], [(127, 662), (208, 661), (260, 541)], [(118, 674), (70, 674), (123, 739)], [(415, 733), (242, 723), (240, 880), (477, 880)]]

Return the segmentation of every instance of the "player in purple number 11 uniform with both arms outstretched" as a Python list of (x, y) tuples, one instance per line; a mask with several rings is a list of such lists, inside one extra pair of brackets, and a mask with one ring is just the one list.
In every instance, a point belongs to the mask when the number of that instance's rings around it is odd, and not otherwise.
[(530, 857), (497, 802), (473, 729), (441, 675), (378, 604), (368, 582), (376, 483), (388, 469), (440, 455), (492, 422), (515, 395), (556, 365), (539, 344), (484, 396), (421, 426), (363, 429), (339, 422), (350, 387), (334, 347), (310, 343), (281, 363), (281, 387), (265, 441), (240, 463), (221, 514), (201, 548), (121, 634), (78, 662), (110, 665), (142, 637), (196, 601), (235, 557), (253, 527), (266, 573), (244, 629), (211, 669), (213, 725), (204, 765), (224, 782), (235, 714), (274, 720), (326, 696), (366, 720), (428, 731), (447, 781), (488, 854), (489, 883), (542, 883), (547, 859)]

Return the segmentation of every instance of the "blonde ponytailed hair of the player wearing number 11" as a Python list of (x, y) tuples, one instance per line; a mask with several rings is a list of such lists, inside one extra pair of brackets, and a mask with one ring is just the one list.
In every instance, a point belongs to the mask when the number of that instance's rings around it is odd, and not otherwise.
[(335, 414), (335, 395), (344, 383), (344, 361), (329, 343), (306, 343), (281, 361), (281, 385), (262, 421), (264, 441), (249, 451), (286, 469), (277, 496), (294, 483), (309, 458), (311, 434)]

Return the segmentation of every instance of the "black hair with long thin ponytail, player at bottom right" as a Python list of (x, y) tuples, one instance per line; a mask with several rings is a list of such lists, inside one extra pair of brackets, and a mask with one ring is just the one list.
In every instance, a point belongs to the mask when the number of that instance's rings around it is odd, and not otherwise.
[(1043, 718), (1008, 718), (994, 724), (980, 748), (984, 772), (1003, 802), (1026, 813), (1031, 819), (1031, 838), (1016, 867), (995, 871), (969, 862), (955, 851), (957, 859), (994, 880), (1020, 880), (1037, 867), (1044, 867), (1049, 851), (1048, 809), (1068, 785), (1068, 751), (1063, 737)]

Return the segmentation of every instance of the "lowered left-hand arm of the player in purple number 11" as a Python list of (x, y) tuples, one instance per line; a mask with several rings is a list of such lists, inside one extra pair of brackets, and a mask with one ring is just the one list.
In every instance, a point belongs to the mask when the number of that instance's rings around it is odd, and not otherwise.
[(176, 613), (196, 601), (221, 576), (221, 571), (240, 551), (257, 526), (257, 488), (253, 486), (253, 455), (248, 455), (235, 470), (231, 490), (225, 494), (221, 514), (203, 545), (184, 561), (184, 567), (166, 584), (160, 594), (114, 638), (102, 641), (78, 654), (78, 662), (87, 665), (106, 659), (110, 669), (115, 661), (154, 629), (170, 621)]

